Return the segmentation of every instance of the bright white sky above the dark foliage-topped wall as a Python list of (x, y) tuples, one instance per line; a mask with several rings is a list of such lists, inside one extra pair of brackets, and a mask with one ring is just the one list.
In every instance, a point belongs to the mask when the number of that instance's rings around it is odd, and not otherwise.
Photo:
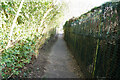
[(105, 2), (110, 0), (64, 0), (65, 3), (69, 6), (69, 13), (67, 14), (69, 17), (77, 17), (81, 14), (86, 13), (96, 6), (100, 6)]

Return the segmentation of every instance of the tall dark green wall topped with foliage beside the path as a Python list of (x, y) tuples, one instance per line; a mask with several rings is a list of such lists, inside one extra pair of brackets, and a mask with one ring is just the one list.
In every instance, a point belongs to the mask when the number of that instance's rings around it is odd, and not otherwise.
[(64, 33), (86, 77), (119, 77), (120, 2), (107, 2), (70, 19)]

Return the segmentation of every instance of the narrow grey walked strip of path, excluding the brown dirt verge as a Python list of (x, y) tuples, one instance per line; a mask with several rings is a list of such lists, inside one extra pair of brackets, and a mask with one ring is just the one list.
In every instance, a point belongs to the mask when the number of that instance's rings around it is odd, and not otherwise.
[(72, 57), (67, 49), (63, 35), (58, 36), (48, 56), (49, 63), (46, 65), (45, 78), (78, 78), (71, 64)]

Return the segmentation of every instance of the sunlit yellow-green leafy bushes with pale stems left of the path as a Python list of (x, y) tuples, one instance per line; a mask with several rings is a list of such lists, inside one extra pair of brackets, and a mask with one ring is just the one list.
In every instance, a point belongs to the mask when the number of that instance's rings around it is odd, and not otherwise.
[[(52, 0), (0, 2), (0, 71), (18, 75), (62, 19), (62, 4)], [(61, 17), (61, 18), (60, 18)], [(59, 18), (59, 19), (58, 19)]]

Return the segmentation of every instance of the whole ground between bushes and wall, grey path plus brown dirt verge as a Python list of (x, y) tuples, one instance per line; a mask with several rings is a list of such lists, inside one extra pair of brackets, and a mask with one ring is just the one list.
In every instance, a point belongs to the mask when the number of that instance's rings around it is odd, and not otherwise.
[(22, 78), (83, 78), (63, 35), (50, 40), (39, 52), (38, 58), (22, 73)]

